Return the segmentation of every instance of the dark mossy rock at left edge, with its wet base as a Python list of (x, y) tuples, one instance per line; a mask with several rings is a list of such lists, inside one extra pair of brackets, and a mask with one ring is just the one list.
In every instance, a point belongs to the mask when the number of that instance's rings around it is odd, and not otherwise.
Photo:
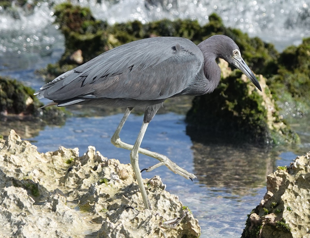
[[(32, 137), (46, 124), (63, 124), (69, 115), (62, 108), (47, 107), (34, 95), (35, 91), (9, 77), (0, 76), (0, 133), (7, 136), (12, 128)], [(35, 123), (34, 123), (35, 122)]]

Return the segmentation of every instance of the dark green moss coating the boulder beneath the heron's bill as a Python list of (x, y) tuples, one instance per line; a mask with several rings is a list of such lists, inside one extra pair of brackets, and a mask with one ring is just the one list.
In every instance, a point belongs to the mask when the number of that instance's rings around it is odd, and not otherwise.
[(265, 143), (272, 139), (267, 125), (267, 110), (262, 97), (241, 80), (241, 71), (234, 70), (211, 94), (196, 97), (186, 121), (199, 125), (210, 135), (234, 137)]

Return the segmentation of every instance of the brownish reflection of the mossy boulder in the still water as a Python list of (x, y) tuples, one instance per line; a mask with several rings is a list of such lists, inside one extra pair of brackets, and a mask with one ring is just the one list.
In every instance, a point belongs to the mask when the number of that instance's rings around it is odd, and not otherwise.
[(193, 142), (193, 162), (199, 182), (215, 190), (224, 189), (228, 197), (249, 195), (251, 189), (265, 186), (266, 175), (274, 170), (277, 156), (266, 148), (238, 144), (233, 138), (229, 143), (201, 135), (189, 126), (186, 132)]

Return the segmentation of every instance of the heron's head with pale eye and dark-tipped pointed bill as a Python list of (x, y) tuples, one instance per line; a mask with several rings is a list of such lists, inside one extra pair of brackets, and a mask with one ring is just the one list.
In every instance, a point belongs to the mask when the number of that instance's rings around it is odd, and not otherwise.
[(242, 73), (245, 74), (246, 77), (248, 77), (260, 91), (262, 91), (255, 75), (250, 70), (246, 62), (242, 59), (240, 49), (237, 44), (230, 37), (225, 35), (214, 35), (210, 38), (215, 36), (218, 36), (214, 39), (217, 40), (218, 57), (226, 60), (228, 63), (241, 70)]

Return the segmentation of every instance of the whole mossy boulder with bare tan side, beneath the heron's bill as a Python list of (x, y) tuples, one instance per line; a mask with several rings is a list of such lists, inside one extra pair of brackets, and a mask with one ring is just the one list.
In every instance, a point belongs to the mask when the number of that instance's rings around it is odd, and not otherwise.
[[(205, 135), (260, 144), (298, 142), (299, 137), (281, 120), (266, 79), (259, 76), (259, 92), (240, 70), (231, 71), (220, 60), (222, 79), (211, 94), (195, 97), (186, 121)], [(224, 136), (223, 136), (224, 135)]]

